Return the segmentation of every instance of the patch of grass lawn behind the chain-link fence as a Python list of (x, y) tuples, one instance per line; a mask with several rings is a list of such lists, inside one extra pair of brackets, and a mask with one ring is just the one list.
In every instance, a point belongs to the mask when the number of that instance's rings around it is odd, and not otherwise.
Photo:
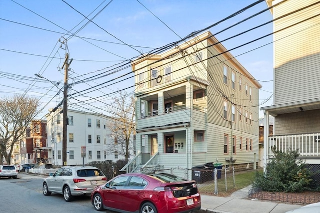
[[(252, 184), (256, 172), (262, 172), (262, 169), (235, 172), (234, 182), (231, 172), (227, 173), (226, 181), (224, 174), (222, 174), (221, 179), (217, 181), (217, 196), (227, 197), (233, 192), (249, 186)], [(198, 189), (200, 194), (214, 194), (214, 181), (198, 184)]]

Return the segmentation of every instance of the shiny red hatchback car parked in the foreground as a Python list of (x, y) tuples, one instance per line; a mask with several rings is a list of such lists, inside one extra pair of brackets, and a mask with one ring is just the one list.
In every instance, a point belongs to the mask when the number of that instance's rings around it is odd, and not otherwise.
[(190, 213), (201, 208), (195, 181), (160, 173), (114, 177), (91, 193), (95, 210), (125, 213)]

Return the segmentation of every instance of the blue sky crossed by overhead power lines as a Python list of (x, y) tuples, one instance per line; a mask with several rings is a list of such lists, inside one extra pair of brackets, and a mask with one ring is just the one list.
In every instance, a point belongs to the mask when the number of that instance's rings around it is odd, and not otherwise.
[[(110, 73), (109, 67), (114, 67), (123, 60), (137, 57), (140, 53), (146, 53), (153, 48), (180, 40), (180, 37), (183, 38), (193, 31), (210, 26), (253, 2), (253, 0), (0, 0), (0, 96), (26, 93), (39, 98), (43, 108), (37, 117), (39, 119), (49, 108), (55, 107), (63, 97), (62, 92), (55, 96), (57, 87), (61, 88), (63, 84), (64, 77), (64, 71), (60, 68), (66, 50), (59, 47), (61, 45), (59, 39), (62, 41), (63, 36), (68, 38), (67, 49), (70, 58), (73, 59), (68, 83), (102, 72), (108, 74), (94, 81), (72, 86), (68, 91), (69, 94), (117, 79), (105, 84), (103, 88), (70, 100), (70, 104), (77, 103), (74, 105), (75, 109), (86, 108), (98, 112), (99, 109), (105, 108), (103, 103), (110, 101), (110, 96), (114, 95), (111, 93), (134, 84), (133, 74), (120, 77), (130, 73), (130, 67), (116, 70), (117, 72), (113, 74)], [(265, 8), (267, 5), (262, 1), (208, 30), (215, 34)], [(80, 13), (89, 19), (93, 18), (94, 23), (86, 24), (87, 19)], [(270, 11), (265, 11), (215, 37), (223, 40), (271, 19)], [(67, 31), (76, 32), (76, 36), (65, 35), (70, 34)], [(269, 23), (222, 44), (225, 48), (231, 49), (271, 32), (272, 23)], [(62, 44), (61, 47), (65, 45)], [(270, 35), (231, 51), (232, 55), (236, 56), (236, 59), (262, 85), (259, 92), (259, 103), (263, 103), (261, 106), (272, 105), (273, 101), (272, 97), (268, 99), (273, 92), (272, 48), (272, 35)], [(34, 73), (49, 79), (53, 84), (55, 82), (60, 84), (55, 87), (46, 80), (37, 80)], [(131, 78), (124, 80), (127, 77)], [(120, 82), (115, 83), (117, 81)], [(132, 87), (127, 89), (127, 92), (133, 90)], [(100, 98), (99, 101), (89, 100), (91, 97)], [(80, 101), (86, 101), (86, 104)], [(263, 113), (259, 112), (259, 117), (262, 115)]]

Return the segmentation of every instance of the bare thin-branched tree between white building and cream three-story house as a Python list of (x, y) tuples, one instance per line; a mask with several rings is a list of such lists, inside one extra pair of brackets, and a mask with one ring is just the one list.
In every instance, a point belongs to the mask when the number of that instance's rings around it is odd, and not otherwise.
[(126, 93), (119, 93), (119, 97), (113, 99), (113, 103), (107, 108), (114, 120), (108, 128), (112, 143), (107, 144), (107, 153), (125, 158), (127, 162), (130, 151), (133, 152), (133, 135), (135, 131), (135, 101), (134, 97), (128, 97)]

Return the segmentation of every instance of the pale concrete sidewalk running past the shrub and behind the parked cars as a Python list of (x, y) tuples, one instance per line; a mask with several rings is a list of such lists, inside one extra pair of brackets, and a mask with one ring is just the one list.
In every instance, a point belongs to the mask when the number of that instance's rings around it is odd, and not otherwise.
[[(44, 179), (47, 176), (18, 173), (18, 179)], [(285, 213), (303, 205), (248, 199), (251, 186), (234, 192), (230, 197), (201, 195), (198, 213)]]

